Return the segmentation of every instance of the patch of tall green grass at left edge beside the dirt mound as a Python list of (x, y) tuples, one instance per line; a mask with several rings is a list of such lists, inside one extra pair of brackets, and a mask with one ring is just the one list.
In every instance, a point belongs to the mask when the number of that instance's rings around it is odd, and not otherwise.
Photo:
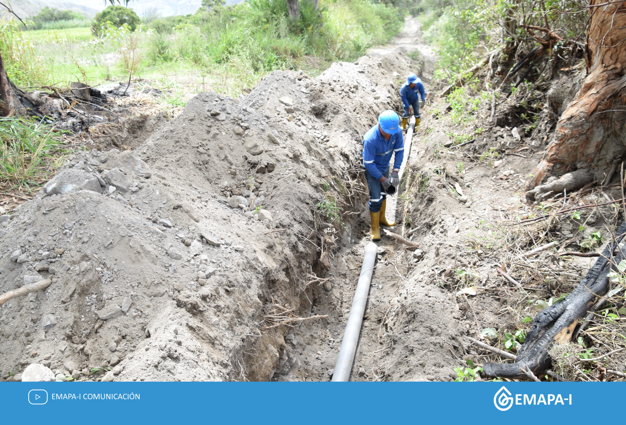
[(49, 126), (0, 118), (0, 188), (30, 192), (61, 165), (61, 138)]

